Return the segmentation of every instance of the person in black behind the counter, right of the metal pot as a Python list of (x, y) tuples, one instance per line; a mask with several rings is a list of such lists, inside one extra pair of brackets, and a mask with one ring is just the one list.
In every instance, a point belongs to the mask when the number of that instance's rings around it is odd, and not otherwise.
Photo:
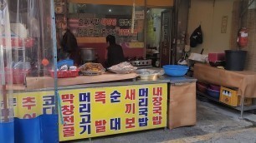
[(106, 42), (109, 44), (107, 47), (107, 67), (119, 64), (120, 62), (125, 62), (125, 55), (123, 49), (120, 45), (115, 43), (115, 37), (108, 35), (106, 37)]

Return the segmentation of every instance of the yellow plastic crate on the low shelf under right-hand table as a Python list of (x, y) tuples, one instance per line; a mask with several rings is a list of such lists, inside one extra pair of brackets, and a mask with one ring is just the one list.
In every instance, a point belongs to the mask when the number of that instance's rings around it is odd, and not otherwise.
[[(229, 106), (241, 106), (241, 96), (238, 96), (238, 91), (223, 86), (221, 86), (219, 101)], [(249, 106), (252, 102), (252, 98), (244, 98), (244, 106)]]

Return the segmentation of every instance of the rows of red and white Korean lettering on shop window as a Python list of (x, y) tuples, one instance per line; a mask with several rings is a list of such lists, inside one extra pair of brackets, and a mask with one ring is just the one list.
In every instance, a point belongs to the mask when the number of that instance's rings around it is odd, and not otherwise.
[[(140, 18), (144, 15), (139, 13)], [(80, 13), (78, 19), (69, 19), (69, 27), (72, 32), (77, 33), (77, 37), (106, 37), (107, 35), (115, 35), (117, 37), (136, 37), (141, 32), (143, 22), (135, 20), (134, 32), (131, 32), (131, 16), (102, 16), (93, 17), (92, 14)]]

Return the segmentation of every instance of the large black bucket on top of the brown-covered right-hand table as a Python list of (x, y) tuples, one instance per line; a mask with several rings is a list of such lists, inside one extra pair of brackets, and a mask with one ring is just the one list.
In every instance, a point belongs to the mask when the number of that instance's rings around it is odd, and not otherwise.
[(225, 69), (228, 71), (243, 71), (246, 61), (246, 55), (246, 51), (225, 50)]

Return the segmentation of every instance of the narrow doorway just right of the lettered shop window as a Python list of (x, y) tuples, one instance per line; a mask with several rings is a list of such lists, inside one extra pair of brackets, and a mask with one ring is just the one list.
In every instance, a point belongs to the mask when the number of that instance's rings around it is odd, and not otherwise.
[(146, 12), (146, 58), (153, 67), (171, 63), (172, 10), (148, 8)]

